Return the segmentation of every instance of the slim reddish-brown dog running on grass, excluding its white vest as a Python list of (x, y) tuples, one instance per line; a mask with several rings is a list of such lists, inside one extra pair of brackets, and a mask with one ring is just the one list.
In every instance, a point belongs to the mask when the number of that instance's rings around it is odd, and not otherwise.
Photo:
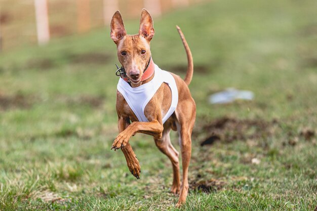
[[(145, 9), (142, 10), (139, 33), (135, 35), (127, 35), (119, 11), (114, 13), (110, 27), (110, 36), (117, 46), (117, 56), (123, 66), (118, 70), (121, 73), (121, 78), (126, 81), (124, 83), (129, 88), (140, 88), (142, 85), (144, 87), (156, 74), (152, 70), (148, 70), (154, 69), (150, 53), (150, 41), (154, 35), (154, 28), (150, 14)], [(172, 162), (173, 185), (171, 191), (173, 193), (180, 193), (177, 203), (177, 206), (180, 206), (186, 201), (188, 192), (187, 173), (191, 156), (191, 132), (195, 121), (196, 106), (188, 89), (193, 74), (191, 52), (182, 31), (178, 26), (177, 29), (186, 50), (188, 67), (184, 80), (178, 75), (170, 73), (176, 82), (178, 91), (178, 102), (175, 111), (163, 123), (162, 119), (172, 106), (173, 98), (172, 90), (166, 82), (162, 83), (144, 108), (144, 116), (147, 121), (140, 121), (129, 106), (127, 99), (125, 99), (121, 92), (117, 91), (116, 111), (118, 115), (119, 135), (115, 138), (111, 149), (122, 149), (130, 172), (139, 179), (141, 168), (129, 144), (129, 139), (136, 133), (153, 136), (156, 146)], [(170, 140), (171, 129), (178, 131), (179, 134), (183, 164), (182, 184), (180, 183), (178, 152)]]

